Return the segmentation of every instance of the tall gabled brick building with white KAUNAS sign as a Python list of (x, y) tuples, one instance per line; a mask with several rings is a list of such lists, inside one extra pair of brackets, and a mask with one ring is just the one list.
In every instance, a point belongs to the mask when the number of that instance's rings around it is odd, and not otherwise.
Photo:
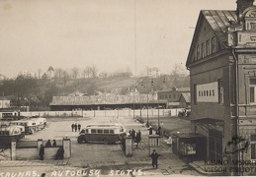
[(237, 0), (236, 11), (204, 10), (199, 15), (186, 66), (192, 130), (207, 138), (208, 159), (256, 160), (253, 2)]

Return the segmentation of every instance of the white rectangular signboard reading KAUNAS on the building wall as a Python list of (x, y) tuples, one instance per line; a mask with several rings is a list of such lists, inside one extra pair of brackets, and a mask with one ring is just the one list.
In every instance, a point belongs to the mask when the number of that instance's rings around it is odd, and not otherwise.
[(218, 102), (217, 82), (198, 85), (197, 102)]

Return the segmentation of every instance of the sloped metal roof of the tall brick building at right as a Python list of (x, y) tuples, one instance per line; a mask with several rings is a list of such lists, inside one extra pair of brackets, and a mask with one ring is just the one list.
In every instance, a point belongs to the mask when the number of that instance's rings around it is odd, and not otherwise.
[(236, 11), (234, 10), (202, 10), (199, 15), (195, 33), (193, 35), (186, 66), (193, 62), (191, 60), (193, 58), (193, 52), (195, 51), (194, 47), (196, 46), (195, 43), (197, 42), (198, 35), (200, 35), (199, 31), (202, 28), (203, 20), (206, 20), (210, 25), (211, 29), (213, 29), (213, 33), (215, 34), (217, 41), (220, 44), (225, 44), (226, 29), (227, 27), (231, 26), (230, 22), (232, 22), (232, 24), (237, 23), (237, 16)]

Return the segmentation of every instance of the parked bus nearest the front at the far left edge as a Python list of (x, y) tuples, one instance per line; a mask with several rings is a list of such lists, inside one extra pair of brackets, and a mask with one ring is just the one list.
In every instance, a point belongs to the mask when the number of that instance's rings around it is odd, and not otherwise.
[(7, 126), (0, 128), (1, 144), (9, 144), (11, 141), (19, 142), (22, 139), (20, 126)]

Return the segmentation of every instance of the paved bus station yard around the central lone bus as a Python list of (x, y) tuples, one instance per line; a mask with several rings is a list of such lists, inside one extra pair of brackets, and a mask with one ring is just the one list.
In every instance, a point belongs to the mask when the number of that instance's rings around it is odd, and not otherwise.
[[(36, 170), (35, 176), (36, 173), (37, 176), (40, 176), (43, 172), (46, 173), (46, 176), (90, 176), (89, 170), (93, 170), (90, 173), (91, 176), (98, 176), (96, 170), (101, 170), (101, 176), (128, 176), (128, 170), (130, 169), (134, 170), (133, 176), (200, 175), (177, 155), (173, 154), (171, 148), (163, 139), (160, 140), (161, 155), (158, 159), (158, 168), (152, 168), (148, 150), (148, 130), (143, 124), (135, 122), (132, 118), (118, 118), (118, 120), (115, 120), (126, 125), (127, 130), (141, 131), (142, 140), (138, 148), (132, 147), (131, 157), (127, 157), (119, 145), (106, 147), (106, 145), (102, 144), (77, 144), (78, 133), (70, 132), (70, 125), (73, 121), (82, 125), (88, 124), (88, 122), (92, 123), (91, 119), (86, 120), (86, 118), (72, 119), (72, 121), (49, 120), (48, 127), (50, 129), (26, 138), (27, 140), (37, 140), (42, 138), (41, 134), (43, 134), (48, 139), (53, 139), (57, 137), (63, 138), (63, 134), (66, 134), (72, 141), (72, 155), (69, 159), (0, 161), (0, 176), (1, 173), (6, 175), (8, 172), (28, 171), (31, 171), (31, 176), (33, 176), (33, 170)], [(94, 123), (95, 121), (110, 122), (109, 119), (94, 119)], [(81, 151), (84, 152), (83, 155), (85, 157), (81, 154)], [(86, 174), (86, 172), (88, 173)]]

